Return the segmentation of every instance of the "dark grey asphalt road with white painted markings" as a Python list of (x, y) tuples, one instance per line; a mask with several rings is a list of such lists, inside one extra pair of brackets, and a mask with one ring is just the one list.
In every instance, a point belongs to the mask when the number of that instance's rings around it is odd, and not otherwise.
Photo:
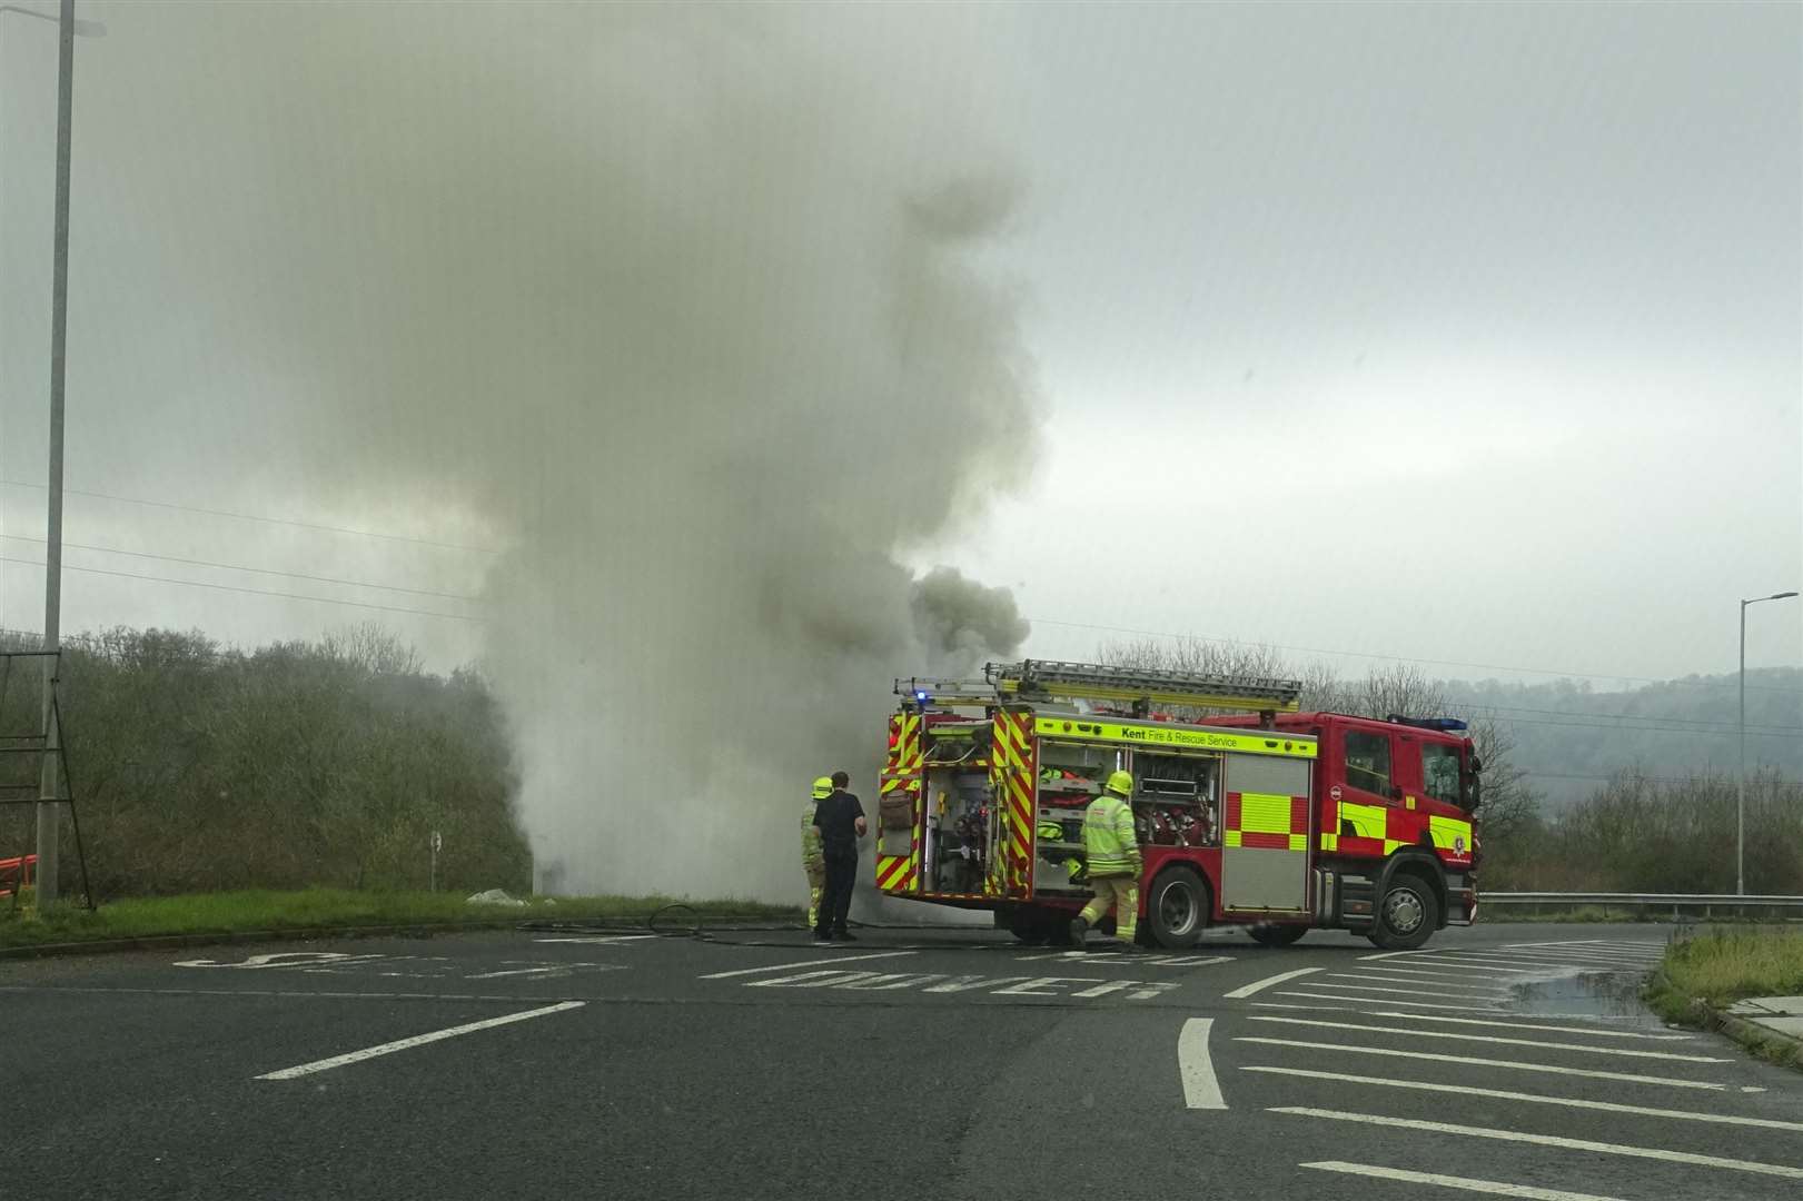
[(1385, 956), (1219, 931), (1123, 958), (519, 931), (0, 961), (0, 1196), (1803, 1196), (1803, 1075), (1634, 999), (1668, 934), (1489, 925)]

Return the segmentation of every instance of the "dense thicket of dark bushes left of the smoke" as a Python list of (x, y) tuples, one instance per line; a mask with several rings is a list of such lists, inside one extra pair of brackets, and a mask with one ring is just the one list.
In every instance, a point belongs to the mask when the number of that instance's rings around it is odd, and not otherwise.
[[(252, 653), (200, 633), (110, 629), (70, 640), (61, 678), (96, 896), (424, 889), (435, 830), (444, 887), (530, 884), (494, 696), (474, 671), (422, 673), (380, 629)], [(13, 680), (0, 729), (34, 729), (34, 687)], [(14, 757), (14, 774), (34, 766)], [(29, 851), (32, 828), (31, 808), (13, 806), (0, 857)]]

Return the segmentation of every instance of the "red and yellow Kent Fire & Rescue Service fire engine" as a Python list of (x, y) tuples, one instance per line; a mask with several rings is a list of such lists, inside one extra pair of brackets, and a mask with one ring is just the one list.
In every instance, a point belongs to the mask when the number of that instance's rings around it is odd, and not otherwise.
[(896, 680), (876, 887), (1060, 943), (1089, 896), (1084, 810), (1125, 768), (1149, 943), (1221, 923), (1273, 947), (1329, 927), (1408, 950), (1469, 925), (1482, 765), (1464, 723), (1298, 712), (1300, 691), (1048, 660)]

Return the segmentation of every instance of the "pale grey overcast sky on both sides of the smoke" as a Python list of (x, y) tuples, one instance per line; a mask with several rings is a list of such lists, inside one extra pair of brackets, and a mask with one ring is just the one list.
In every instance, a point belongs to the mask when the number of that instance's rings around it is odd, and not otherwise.
[[(108, 32), (76, 47), (69, 487), (454, 546), (72, 494), (72, 545), (162, 557), (70, 548), (70, 566), (377, 608), (70, 572), (65, 629), (254, 644), (373, 617), (435, 664), (476, 655), (480, 622), (393, 610), (480, 617), (456, 597), (481, 590), (498, 530), (454, 494), (319, 481), (285, 454), (312, 435), (307, 399), (265, 408), (279, 364), (247, 375), (231, 314), (184, 299), (209, 256), (256, 254), (245, 213), (279, 213), (321, 146), (359, 135), (209, 159), (216, 110), (267, 103), (254, 81), (352, 14), (79, 7)], [(1013, 588), (1030, 653), (1085, 656), (1107, 633), (1080, 626), (1107, 626), (1606, 685), (1733, 669), (1734, 602), (1803, 586), (1803, 7), (1039, 5), (966, 36), (983, 78), (963, 85), (1022, 184), (983, 267), (1022, 298), (1044, 429), (1037, 453), (1022, 433), (1020, 490), (903, 550)], [(370, 54), (429, 60), (422, 41)], [(25, 629), (54, 45), (0, 16), (0, 624)], [(471, 112), (445, 121), (474, 121), (480, 160), (498, 132)], [(177, 160), (191, 188), (171, 200)], [(139, 252), (159, 204), (236, 236)], [(896, 505), (907, 474), (883, 445), (837, 471)], [(1803, 664), (1803, 604), (1753, 610), (1747, 656)]]

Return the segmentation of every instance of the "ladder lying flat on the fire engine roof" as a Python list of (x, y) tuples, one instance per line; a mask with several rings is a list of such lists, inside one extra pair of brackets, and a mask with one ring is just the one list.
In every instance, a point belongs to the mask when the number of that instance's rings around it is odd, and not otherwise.
[(1138, 707), (1190, 705), (1295, 712), (1296, 698), (1302, 696), (1300, 680), (1105, 667), (1044, 658), (986, 664), (983, 674), (997, 692), (1017, 700), (1111, 700)]

